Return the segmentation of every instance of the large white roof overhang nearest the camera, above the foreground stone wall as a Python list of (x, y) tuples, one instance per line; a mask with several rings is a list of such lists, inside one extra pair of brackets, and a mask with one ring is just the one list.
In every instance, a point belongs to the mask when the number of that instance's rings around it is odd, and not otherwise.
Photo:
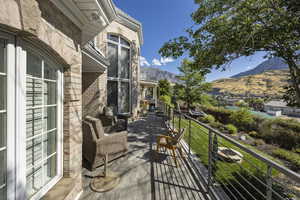
[(85, 45), (117, 18), (111, 0), (52, 0), (82, 31), (81, 44)]

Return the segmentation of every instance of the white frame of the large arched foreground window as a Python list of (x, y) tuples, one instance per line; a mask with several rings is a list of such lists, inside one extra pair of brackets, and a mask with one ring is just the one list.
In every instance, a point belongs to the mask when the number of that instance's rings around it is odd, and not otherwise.
[[(50, 64), (61, 66), (37, 47), (12, 34), (0, 32), (7, 40), (7, 199), (26, 197), (26, 53), (27, 50)], [(57, 79), (57, 175), (30, 199), (43, 197), (63, 176), (63, 68)]]

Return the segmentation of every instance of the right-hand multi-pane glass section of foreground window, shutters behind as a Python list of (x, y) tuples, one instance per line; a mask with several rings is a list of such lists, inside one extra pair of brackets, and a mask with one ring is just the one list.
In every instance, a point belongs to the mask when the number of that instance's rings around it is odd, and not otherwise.
[(27, 53), (26, 192), (30, 197), (57, 175), (56, 66)]

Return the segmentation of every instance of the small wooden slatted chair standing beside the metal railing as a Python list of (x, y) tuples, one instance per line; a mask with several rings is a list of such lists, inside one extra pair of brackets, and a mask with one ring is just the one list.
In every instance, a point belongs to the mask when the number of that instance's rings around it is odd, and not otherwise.
[(183, 138), (184, 131), (184, 128), (180, 129), (180, 131), (174, 137), (167, 135), (159, 135), (156, 138), (157, 152), (159, 153), (159, 150), (162, 147), (171, 150), (176, 167), (178, 167), (178, 163), (175, 151), (178, 150), (181, 157), (183, 157), (180, 140)]

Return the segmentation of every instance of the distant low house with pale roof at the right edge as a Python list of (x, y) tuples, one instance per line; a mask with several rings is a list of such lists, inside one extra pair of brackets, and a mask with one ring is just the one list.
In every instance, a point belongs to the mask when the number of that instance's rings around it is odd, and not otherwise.
[(300, 117), (300, 108), (292, 108), (286, 105), (284, 101), (269, 101), (264, 105), (265, 112), (278, 116), (279, 112), (283, 115)]

